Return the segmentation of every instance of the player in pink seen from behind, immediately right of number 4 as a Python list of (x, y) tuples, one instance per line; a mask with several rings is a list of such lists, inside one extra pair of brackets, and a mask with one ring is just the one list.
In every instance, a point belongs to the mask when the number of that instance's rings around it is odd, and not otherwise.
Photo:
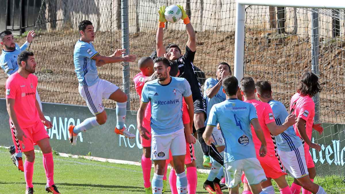
[[(266, 174), (267, 178), (272, 178), (278, 185), (281, 194), (291, 194), (290, 187), (285, 180), (284, 169), (279, 161), (279, 156), (276, 153), (275, 146), (273, 143), (274, 135), (285, 131), (289, 126), (296, 123), (296, 116), (289, 115), (286, 121), (282, 125), (277, 125), (273, 116), (272, 108), (267, 103), (256, 100), (256, 88), (254, 79), (251, 77), (244, 77), (241, 80), (241, 94), (244, 96), (244, 101), (254, 105), (260, 126), (263, 130), (264, 136), (267, 142), (267, 155), (265, 157), (259, 156), (260, 141), (256, 135), (253, 135), (253, 141), (256, 149), (256, 157), (260, 161), (262, 168)], [(254, 129), (252, 128), (252, 131)], [(273, 138), (271, 136), (273, 135)], [(246, 176), (248, 174), (245, 174)], [(250, 193), (249, 187), (246, 183), (246, 178), (244, 178), (244, 192), (245, 194)], [(270, 180), (261, 183), (263, 191), (266, 193), (274, 193), (274, 188)]]

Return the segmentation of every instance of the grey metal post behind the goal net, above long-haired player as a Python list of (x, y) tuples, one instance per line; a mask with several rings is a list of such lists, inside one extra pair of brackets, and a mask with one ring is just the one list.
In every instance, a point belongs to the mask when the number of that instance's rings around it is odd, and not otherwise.
[[(312, 46), (312, 71), (315, 75), (319, 75), (319, 18), (318, 13), (312, 11), (312, 39), (311, 39), (311, 46)], [(320, 95), (317, 93), (313, 97), (313, 101), (315, 103), (315, 117), (314, 121), (317, 122), (320, 120)]]

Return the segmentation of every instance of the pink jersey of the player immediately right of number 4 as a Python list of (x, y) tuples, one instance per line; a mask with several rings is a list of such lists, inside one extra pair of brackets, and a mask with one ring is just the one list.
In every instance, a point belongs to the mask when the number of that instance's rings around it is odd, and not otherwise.
[[(266, 126), (269, 123), (275, 122), (271, 106), (268, 103), (264, 103), (258, 100), (246, 100), (245, 102), (254, 105), (256, 109), (259, 124), (263, 130), (263, 133), (266, 139), (267, 151), (274, 150), (274, 144), (271, 138), (271, 133), (269, 132), (269, 129)], [(258, 151), (261, 147), (261, 142), (259, 138), (256, 136), (253, 126), (252, 126), (252, 134), (253, 134), (253, 142), (255, 145), (255, 149), (256, 151)]]

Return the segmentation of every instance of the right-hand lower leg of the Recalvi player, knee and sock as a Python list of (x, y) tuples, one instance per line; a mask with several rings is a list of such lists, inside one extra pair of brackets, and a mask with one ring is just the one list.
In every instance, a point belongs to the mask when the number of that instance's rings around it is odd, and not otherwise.
[(185, 155), (172, 156), (176, 172), (176, 187), (178, 193), (187, 193), (187, 176), (185, 172)]

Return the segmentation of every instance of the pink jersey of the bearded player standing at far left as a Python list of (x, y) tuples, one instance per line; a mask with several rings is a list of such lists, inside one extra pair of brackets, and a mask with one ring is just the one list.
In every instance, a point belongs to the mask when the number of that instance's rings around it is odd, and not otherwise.
[(29, 74), (24, 78), (15, 72), (6, 81), (6, 98), (15, 100), (14, 112), (21, 128), (34, 126), (40, 120), (36, 109), (36, 87), (38, 79)]

